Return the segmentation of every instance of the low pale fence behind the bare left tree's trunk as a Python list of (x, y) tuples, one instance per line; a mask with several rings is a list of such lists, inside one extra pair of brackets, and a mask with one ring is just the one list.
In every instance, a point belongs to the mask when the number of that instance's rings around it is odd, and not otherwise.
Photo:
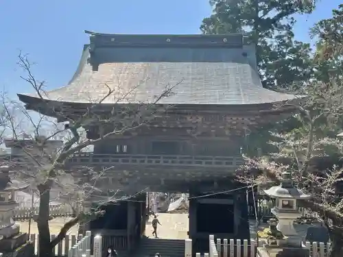
[[(71, 206), (68, 205), (58, 205), (58, 206), (50, 206), (49, 215), (51, 218), (54, 217), (66, 217), (71, 216), (73, 214), (73, 209)], [(14, 216), (13, 219), (15, 221), (18, 220), (25, 220), (29, 219), (30, 217), (34, 217), (38, 215), (38, 207), (34, 208), (15, 208), (14, 209)]]

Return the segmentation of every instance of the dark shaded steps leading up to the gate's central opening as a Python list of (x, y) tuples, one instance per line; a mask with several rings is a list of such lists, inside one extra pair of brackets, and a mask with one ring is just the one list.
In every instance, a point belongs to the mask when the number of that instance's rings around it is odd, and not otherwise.
[(154, 257), (157, 252), (161, 254), (161, 257), (184, 257), (185, 240), (142, 238), (134, 256)]

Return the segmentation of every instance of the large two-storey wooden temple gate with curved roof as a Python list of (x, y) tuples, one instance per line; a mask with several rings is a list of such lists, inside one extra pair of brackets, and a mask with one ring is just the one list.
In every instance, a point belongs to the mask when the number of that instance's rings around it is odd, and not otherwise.
[[(106, 215), (85, 229), (108, 235), (115, 247), (134, 249), (144, 232), (148, 190), (189, 193), (189, 237), (195, 252), (209, 246), (203, 243), (209, 234), (250, 238), (246, 188), (235, 182), (246, 135), (292, 114), (292, 108), (273, 105), (294, 99), (262, 87), (254, 45), (241, 34), (87, 33), (90, 43), (84, 45), (71, 82), (45, 99), (19, 94), (27, 108), (61, 122), (65, 117), (78, 120), (92, 106), (89, 99), (101, 101), (92, 112), (102, 117), (120, 116), (129, 107), (133, 112), (154, 106), (160, 112), (150, 114), (144, 125), (100, 140), (93, 152), (70, 158), (67, 169), (84, 182), (88, 178), (78, 167), (113, 167), (100, 183), (104, 195), (108, 190), (141, 192), (130, 201), (102, 206)], [(104, 98), (108, 88), (126, 99)], [(168, 94), (154, 102), (166, 88)], [(116, 125), (94, 118), (83, 127), (88, 138), (96, 139)], [(100, 198), (89, 199), (86, 208)]]

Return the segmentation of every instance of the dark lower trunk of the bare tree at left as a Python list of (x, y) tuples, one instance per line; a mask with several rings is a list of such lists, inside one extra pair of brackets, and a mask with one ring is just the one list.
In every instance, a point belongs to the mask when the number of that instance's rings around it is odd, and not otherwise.
[(40, 201), (39, 212), (37, 218), (37, 227), (39, 233), (39, 257), (52, 257), (52, 249), (50, 245), (50, 230), (49, 230), (49, 203), (50, 203), (50, 188), (49, 182), (37, 186)]

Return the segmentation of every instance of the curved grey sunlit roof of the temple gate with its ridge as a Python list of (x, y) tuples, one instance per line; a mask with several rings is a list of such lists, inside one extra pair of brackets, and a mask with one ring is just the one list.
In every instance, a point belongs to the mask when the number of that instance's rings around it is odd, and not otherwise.
[[(248, 105), (287, 101), (294, 95), (262, 87), (255, 47), (241, 34), (91, 34), (67, 86), (43, 97), (68, 103), (151, 103), (168, 87), (161, 104)], [(19, 94), (29, 102), (36, 95)]]

